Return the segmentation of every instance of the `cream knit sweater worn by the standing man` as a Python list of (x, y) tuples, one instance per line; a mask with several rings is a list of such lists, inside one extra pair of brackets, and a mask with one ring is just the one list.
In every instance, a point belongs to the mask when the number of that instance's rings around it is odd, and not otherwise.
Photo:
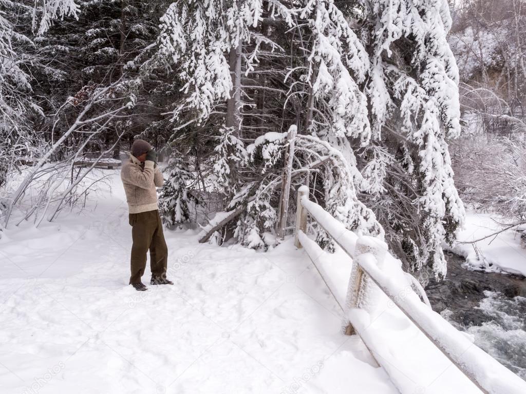
[(130, 154), (120, 170), (120, 179), (123, 181), (129, 213), (155, 211), (157, 209), (158, 188), (163, 185), (163, 173), (159, 167), (154, 168), (154, 162), (146, 160), (144, 165)]

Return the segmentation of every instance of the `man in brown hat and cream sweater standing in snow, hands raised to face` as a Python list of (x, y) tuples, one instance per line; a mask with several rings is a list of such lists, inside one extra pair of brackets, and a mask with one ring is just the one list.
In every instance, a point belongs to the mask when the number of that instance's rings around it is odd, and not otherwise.
[(157, 192), (163, 185), (163, 174), (157, 167), (157, 153), (144, 140), (135, 140), (129, 160), (123, 163), (120, 179), (124, 184), (131, 225), (131, 276), (129, 284), (138, 291), (147, 287), (141, 282), (146, 268), (146, 253), (150, 251), (152, 285), (173, 285), (166, 278), (168, 247), (157, 210)]

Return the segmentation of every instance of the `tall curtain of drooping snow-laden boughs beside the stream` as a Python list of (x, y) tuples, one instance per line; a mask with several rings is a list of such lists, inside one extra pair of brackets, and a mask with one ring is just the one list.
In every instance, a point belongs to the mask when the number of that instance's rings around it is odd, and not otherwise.
[(370, 193), (365, 201), (387, 207), (375, 211), (407, 268), (426, 266), (423, 275), (443, 276), (441, 244), (453, 240), (464, 216), (446, 142), (460, 133), (458, 68), (446, 41), (448, 3), (383, 0), (371, 11), (380, 23), (368, 32), (375, 127), (364, 155), (371, 158), (363, 171)]

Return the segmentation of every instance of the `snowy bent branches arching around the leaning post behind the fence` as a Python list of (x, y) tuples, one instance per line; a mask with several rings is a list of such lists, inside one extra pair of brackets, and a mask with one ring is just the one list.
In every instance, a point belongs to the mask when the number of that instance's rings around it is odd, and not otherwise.
[[(214, 159), (220, 163), (215, 167), (220, 175), (217, 185), (226, 184), (228, 190), (237, 191), (229, 197), (227, 209), (246, 206), (244, 213), (231, 223), (232, 235), (242, 245), (266, 250), (276, 242), (277, 208), (289, 142), (288, 133), (268, 132), (244, 149), (227, 130), (218, 144), (216, 152), (220, 154)], [(363, 179), (356, 167), (350, 166), (341, 152), (317, 137), (297, 136), (295, 147), (292, 189), (313, 183), (312, 194), (318, 202), (348, 229), (381, 235), (375, 214), (357, 199), (355, 184)], [(310, 168), (315, 168), (315, 172), (311, 174)], [(293, 214), (289, 211), (289, 215)], [(329, 249), (334, 246), (321, 229), (318, 229), (317, 241)]]

